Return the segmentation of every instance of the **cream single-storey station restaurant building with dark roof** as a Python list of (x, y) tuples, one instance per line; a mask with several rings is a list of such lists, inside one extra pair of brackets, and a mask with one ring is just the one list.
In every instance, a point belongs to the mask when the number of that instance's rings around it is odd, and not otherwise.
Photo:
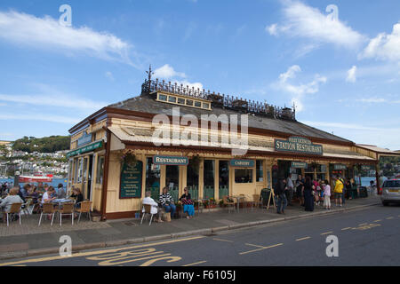
[(288, 173), (331, 180), (377, 165), (377, 149), (300, 123), (294, 108), (152, 80), (148, 73), (140, 96), (105, 106), (69, 130), (68, 190), (80, 188), (103, 220), (134, 217), (144, 193), (157, 200), (164, 186), (175, 200), (188, 186), (192, 199), (218, 201), (260, 194)]

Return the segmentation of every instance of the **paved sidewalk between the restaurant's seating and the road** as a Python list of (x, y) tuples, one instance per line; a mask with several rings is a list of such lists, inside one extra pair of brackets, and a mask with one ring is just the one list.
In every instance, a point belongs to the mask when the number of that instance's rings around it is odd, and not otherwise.
[(54, 254), (60, 251), (60, 237), (68, 235), (72, 240), (72, 251), (92, 248), (122, 246), (132, 243), (176, 239), (190, 235), (212, 235), (213, 233), (235, 230), (239, 228), (265, 225), (286, 220), (311, 218), (329, 214), (340, 214), (348, 210), (363, 209), (380, 204), (379, 196), (369, 196), (346, 201), (343, 207), (326, 210), (316, 206), (314, 212), (306, 212), (297, 203), (285, 209), (285, 215), (276, 214), (271, 206), (267, 209), (241, 208), (228, 213), (226, 208), (204, 209), (197, 212), (192, 219), (178, 218), (172, 222), (148, 225), (148, 220), (140, 219), (108, 220), (92, 222), (84, 216), (81, 222), (71, 225), (71, 219), (65, 218), (62, 225), (56, 221), (51, 226), (50, 221), (42, 220), (38, 226), (40, 215), (22, 216), (21, 225), (18, 221), (7, 227), (0, 223), (0, 259), (10, 259), (26, 256)]

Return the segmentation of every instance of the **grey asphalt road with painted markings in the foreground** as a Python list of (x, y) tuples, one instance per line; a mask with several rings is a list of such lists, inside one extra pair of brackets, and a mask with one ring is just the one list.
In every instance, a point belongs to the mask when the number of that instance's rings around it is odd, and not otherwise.
[[(269, 266), (400, 265), (400, 207), (373, 206), (211, 236), (191, 236), (74, 253), (36, 256), (0, 265)], [(339, 256), (328, 257), (328, 236)], [(330, 250), (332, 251), (332, 250)]]

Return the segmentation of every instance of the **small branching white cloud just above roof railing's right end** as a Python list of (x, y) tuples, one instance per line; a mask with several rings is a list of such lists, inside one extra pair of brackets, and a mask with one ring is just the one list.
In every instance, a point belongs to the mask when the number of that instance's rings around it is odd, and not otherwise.
[(315, 75), (314, 80), (310, 83), (294, 85), (287, 82), (288, 79), (295, 78), (296, 74), (300, 71), (301, 68), (298, 65), (289, 67), (285, 73), (279, 75), (279, 82), (276, 84), (276, 88), (292, 94), (292, 104), (296, 106), (297, 112), (304, 110), (304, 105), (302, 103), (304, 96), (307, 94), (315, 94), (319, 91), (319, 85), (327, 81), (326, 77)]

